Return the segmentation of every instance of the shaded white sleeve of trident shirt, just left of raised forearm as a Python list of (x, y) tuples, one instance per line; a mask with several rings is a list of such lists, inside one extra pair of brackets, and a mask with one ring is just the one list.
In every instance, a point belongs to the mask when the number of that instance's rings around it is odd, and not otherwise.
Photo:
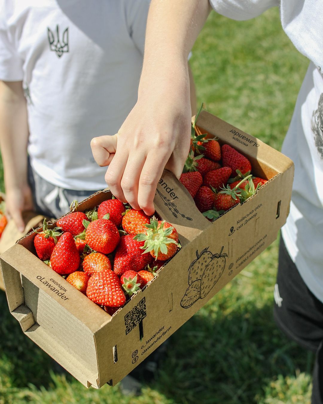
[(140, 53), (144, 54), (146, 23), (150, 0), (127, 0), (126, 20), (129, 35)]

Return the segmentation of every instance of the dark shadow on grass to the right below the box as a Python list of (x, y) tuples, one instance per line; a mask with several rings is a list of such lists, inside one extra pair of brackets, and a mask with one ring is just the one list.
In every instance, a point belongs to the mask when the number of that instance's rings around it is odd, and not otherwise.
[(249, 404), (262, 402), (279, 375), (312, 373), (313, 354), (282, 334), (270, 303), (258, 309), (250, 301), (228, 316), (221, 307), (212, 316), (211, 307), (171, 337), (152, 388), (176, 403)]

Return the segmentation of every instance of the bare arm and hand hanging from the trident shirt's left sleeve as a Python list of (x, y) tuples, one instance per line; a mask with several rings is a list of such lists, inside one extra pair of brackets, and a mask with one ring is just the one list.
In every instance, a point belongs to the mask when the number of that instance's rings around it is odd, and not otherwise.
[(6, 211), (21, 231), (25, 228), (21, 213), (32, 209), (31, 191), (27, 182), (28, 135), (22, 82), (0, 82), (0, 148)]

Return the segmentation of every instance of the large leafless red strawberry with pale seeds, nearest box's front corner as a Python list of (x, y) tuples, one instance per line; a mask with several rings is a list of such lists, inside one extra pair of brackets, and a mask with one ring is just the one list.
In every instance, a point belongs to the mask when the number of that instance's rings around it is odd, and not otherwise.
[(126, 302), (117, 274), (109, 269), (96, 272), (90, 277), (86, 296), (96, 304), (109, 307), (120, 307)]

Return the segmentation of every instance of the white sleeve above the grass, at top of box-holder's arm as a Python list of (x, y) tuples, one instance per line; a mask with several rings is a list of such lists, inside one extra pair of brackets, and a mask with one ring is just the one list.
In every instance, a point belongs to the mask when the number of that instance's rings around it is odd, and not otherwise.
[(279, 0), (210, 0), (214, 10), (234, 20), (248, 20), (279, 6)]

